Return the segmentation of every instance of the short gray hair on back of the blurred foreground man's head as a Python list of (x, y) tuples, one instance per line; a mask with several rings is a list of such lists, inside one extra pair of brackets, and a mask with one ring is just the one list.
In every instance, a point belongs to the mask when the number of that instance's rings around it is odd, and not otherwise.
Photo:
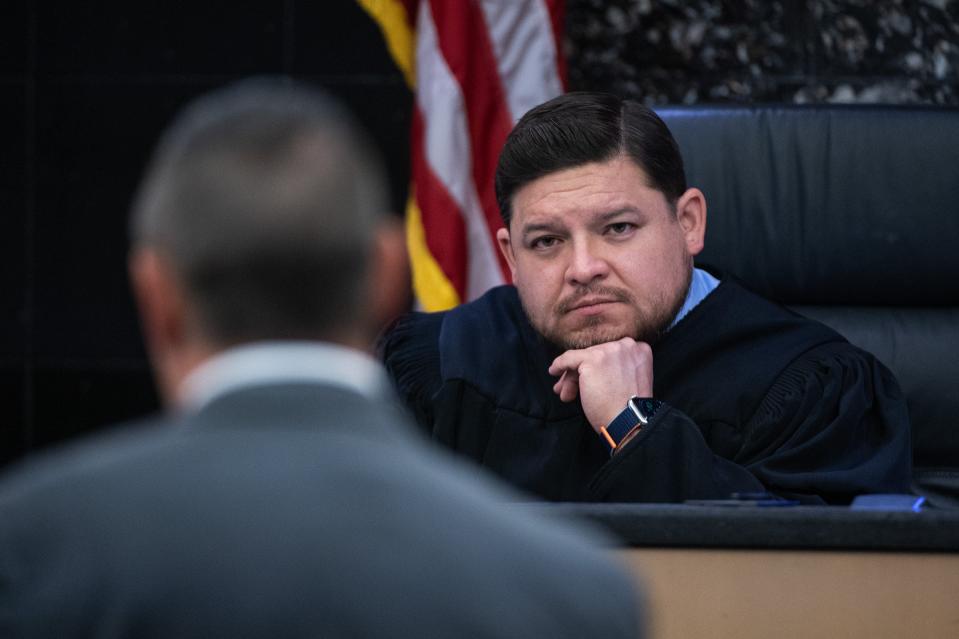
[(288, 79), (188, 105), (133, 205), (135, 246), (171, 262), (205, 337), (315, 338), (360, 319), (382, 167), (348, 113)]

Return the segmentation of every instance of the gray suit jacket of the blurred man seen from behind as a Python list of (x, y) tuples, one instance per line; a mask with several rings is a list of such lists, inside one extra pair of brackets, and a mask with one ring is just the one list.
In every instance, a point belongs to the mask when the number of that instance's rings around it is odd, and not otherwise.
[(235, 391), (8, 473), (0, 636), (636, 636), (631, 580), (514, 497), (391, 400)]

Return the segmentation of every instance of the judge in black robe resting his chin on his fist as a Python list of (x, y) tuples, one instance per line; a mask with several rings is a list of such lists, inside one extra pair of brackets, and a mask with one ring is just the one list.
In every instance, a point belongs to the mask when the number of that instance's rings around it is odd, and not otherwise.
[[(831, 329), (696, 268), (706, 201), (649, 109), (568, 94), (496, 173), (513, 286), (381, 347), (432, 437), (552, 500), (905, 492), (905, 399)], [(654, 375), (655, 372), (655, 375)]]

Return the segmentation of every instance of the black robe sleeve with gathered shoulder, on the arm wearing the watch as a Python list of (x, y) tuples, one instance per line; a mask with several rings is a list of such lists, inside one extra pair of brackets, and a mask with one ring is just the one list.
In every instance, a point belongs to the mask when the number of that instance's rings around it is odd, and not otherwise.
[(740, 444), (722, 457), (689, 416), (664, 406), (600, 469), (591, 492), (603, 501), (683, 501), (768, 490), (848, 503), (857, 494), (909, 490), (905, 400), (882, 363), (848, 344), (800, 357), (732, 427)]

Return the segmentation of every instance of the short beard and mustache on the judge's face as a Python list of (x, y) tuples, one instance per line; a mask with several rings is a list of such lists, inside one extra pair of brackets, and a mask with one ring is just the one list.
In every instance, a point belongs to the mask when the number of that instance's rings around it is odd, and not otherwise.
[[(692, 281), (693, 271), (690, 268), (686, 272), (686, 278), (683, 286), (673, 291), (668, 291), (658, 299), (649, 300), (645, 306), (640, 306), (636, 302), (635, 296), (628, 290), (600, 285), (587, 285), (577, 288), (573, 293), (563, 298), (556, 304), (552, 311), (553, 317), (562, 318), (569, 313), (575, 305), (585, 297), (600, 296), (605, 299), (629, 306), (634, 312), (634, 318), (630, 325), (611, 325), (610, 321), (603, 315), (594, 315), (583, 318), (578, 326), (572, 329), (559, 329), (559, 323), (553, 327), (537, 326), (533, 321), (533, 315), (523, 303), (526, 316), (530, 318), (534, 328), (547, 340), (562, 347), (564, 350), (574, 350), (589, 348), (597, 344), (614, 342), (624, 337), (631, 337), (637, 342), (646, 342), (655, 344), (658, 342), (670, 325), (676, 319), (683, 303), (686, 301), (686, 295), (689, 292), (689, 285)], [(521, 298), (522, 301), (522, 298)]]

